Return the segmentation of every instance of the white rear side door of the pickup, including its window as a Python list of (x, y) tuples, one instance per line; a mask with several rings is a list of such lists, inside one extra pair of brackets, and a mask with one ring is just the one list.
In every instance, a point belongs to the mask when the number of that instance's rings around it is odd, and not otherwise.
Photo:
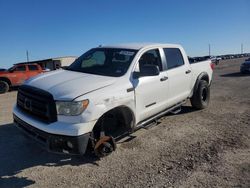
[(164, 48), (169, 81), (168, 104), (174, 105), (190, 94), (191, 69), (179, 48)]

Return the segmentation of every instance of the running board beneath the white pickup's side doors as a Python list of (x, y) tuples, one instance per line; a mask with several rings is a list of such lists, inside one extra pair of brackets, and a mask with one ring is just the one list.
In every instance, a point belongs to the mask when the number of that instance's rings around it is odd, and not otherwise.
[(147, 124), (149, 124), (149, 123), (151, 123), (153, 121), (156, 121), (157, 119), (161, 118), (162, 116), (166, 115), (167, 113), (177, 112), (176, 109), (179, 110), (179, 112), (180, 112), (181, 106), (183, 104), (185, 104), (185, 103), (186, 103), (186, 100), (184, 100), (184, 101), (182, 101), (180, 103), (177, 103), (176, 105), (174, 105), (174, 106), (172, 106), (172, 107), (170, 107), (170, 108), (156, 114), (155, 116), (152, 116), (152, 117), (146, 119), (145, 121), (139, 122), (137, 124), (137, 126), (135, 127), (135, 131), (140, 129), (140, 128), (143, 128), (143, 127), (148, 127)]

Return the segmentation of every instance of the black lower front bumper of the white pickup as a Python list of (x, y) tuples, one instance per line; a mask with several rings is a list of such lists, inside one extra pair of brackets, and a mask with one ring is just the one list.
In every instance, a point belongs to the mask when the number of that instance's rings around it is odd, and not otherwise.
[(13, 115), (15, 125), (28, 136), (32, 137), (48, 151), (83, 155), (86, 152), (90, 133), (79, 136), (65, 136), (47, 133), (37, 129)]

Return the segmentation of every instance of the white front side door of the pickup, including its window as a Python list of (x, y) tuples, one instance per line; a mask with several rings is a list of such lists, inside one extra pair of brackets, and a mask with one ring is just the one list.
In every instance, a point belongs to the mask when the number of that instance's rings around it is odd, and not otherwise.
[(137, 69), (144, 65), (157, 65), (160, 74), (157, 76), (144, 76), (134, 79), (136, 99), (136, 120), (145, 120), (166, 108), (168, 94), (167, 72), (162, 64), (159, 49), (146, 51), (137, 63)]

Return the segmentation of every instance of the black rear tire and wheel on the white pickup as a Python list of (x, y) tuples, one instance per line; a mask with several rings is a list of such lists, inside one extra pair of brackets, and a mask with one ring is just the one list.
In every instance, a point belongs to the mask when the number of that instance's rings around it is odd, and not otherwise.
[(201, 110), (208, 107), (210, 100), (210, 87), (207, 81), (201, 80), (198, 88), (194, 91), (192, 98), (190, 99), (191, 104), (194, 108)]

